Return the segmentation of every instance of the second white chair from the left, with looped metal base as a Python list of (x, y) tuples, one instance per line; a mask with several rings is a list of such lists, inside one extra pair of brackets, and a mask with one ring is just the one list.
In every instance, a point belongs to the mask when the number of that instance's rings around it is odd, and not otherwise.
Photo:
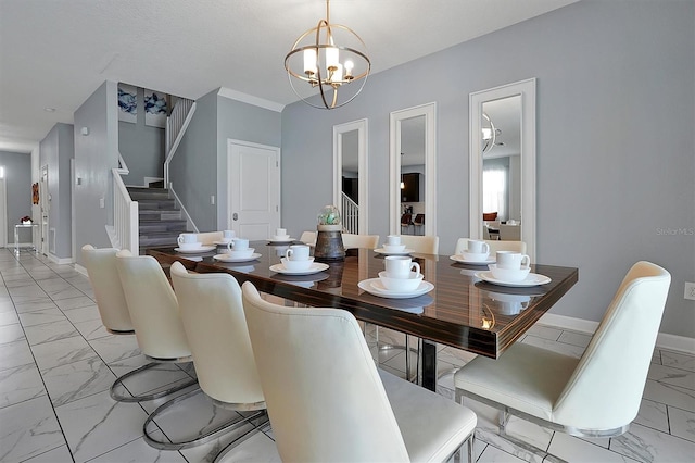
[(119, 402), (154, 400), (195, 385), (189, 379), (160, 392), (130, 397), (119, 393), (134, 376), (164, 363), (190, 363), (191, 350), (178, 313), (174, 289), (160, 263), (150, 255), (132, 255), (128, 250), (116, 253), (116, 268), (128, 303), (130, 320), (140, 352), (150, 363), (121, 376), (111, 387), (111, 397)]

